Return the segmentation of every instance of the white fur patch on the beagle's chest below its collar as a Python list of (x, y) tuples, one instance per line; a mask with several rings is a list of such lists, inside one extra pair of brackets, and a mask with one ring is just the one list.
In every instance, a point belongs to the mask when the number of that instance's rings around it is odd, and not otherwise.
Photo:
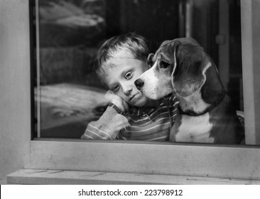
[(197, 117), (183, 115), (175, 139), (185, 142), (214, 143), (215, 139), (210, 137), (212, 127), (209, 113)]

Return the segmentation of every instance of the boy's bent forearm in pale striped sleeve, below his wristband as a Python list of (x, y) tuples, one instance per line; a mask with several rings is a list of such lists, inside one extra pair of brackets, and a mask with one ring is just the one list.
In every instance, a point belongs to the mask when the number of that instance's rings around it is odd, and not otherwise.
[(119, 131), (128, 126), (126, 117), (109, 106), (99, 120), (87, 125), (81, 139), (116, 139)]

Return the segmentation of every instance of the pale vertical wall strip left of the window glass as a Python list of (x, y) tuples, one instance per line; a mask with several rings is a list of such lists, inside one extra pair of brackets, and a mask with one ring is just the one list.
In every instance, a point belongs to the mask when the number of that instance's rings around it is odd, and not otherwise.
[[(30, 56), (28, 0), (0, 0), (0, 184), (28, 161)], [(22, 132), (28, 131), (28, 134)]]

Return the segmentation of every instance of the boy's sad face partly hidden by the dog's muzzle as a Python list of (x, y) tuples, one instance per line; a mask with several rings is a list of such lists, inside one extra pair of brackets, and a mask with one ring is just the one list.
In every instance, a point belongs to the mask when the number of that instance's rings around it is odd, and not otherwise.
[(104, 83), (129, 105), (142, 107), (148, 102), (148, 98), (136, 88), (134, 81), (148, 70), (148, 64), (132, 58), (116, 59), (113, 63), (116, 66), (107, 68)]

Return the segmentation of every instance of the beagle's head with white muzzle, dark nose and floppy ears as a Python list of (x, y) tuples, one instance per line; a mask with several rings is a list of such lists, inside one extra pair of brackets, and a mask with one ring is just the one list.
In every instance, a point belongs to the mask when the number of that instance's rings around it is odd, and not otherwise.
[(148, 62), (153, 63), (151, 68), (136, 80), (135, 85), (151, 99), (170, 93), (179, 97), (193, 95), (205, 84), (205, 72), (212, 65), (193, 38), (164, 41), (155, 55), (149, 55)]

